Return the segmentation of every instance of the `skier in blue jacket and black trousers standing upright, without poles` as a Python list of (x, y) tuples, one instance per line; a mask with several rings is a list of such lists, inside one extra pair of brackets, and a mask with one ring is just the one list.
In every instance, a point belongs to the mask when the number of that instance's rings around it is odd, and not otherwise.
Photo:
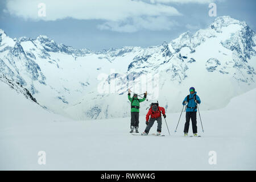
[(193, 134), (195, 137), (197, 137), (197, 126), (196, 126), (196, 112), (197, 112), (197, 104), (201, 103), (201, 100), (199, 96), (197, 96), (195, 92), (195, 88), (191, 87), (189, 88), (190, 94), (185, 97), (183, 100), (182, 104), (186, 105), (187, 104), (187, 109), (186, 109), (186, 122), (184, 126), (184, 136), (188, 136), (188, 129), (189, 129), (189, 121), (191, 118), (192, 121), (192, 129), (193, 129)]

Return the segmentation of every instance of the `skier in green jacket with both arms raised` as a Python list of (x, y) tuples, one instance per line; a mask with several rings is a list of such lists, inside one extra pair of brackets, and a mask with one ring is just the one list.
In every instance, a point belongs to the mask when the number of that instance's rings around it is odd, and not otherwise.
[(131, 90), (128, 90), (128, 100), (131, 102), (131, 131), (133, 133), (134, 129), (136, 133), (139, 133), (139, 102), (146, 100), (147, 91), (144, 93), (142, 99), (138, 99), (138, 95), (134, 94), (131, 98)]

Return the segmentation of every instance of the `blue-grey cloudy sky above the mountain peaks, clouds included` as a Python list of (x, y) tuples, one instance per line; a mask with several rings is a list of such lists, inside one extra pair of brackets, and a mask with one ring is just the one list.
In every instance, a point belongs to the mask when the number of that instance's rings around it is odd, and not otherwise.
[[(0, 28), (11, 38), (47, 35), (75, 48), (158, 46), (208, 27), (216, 18), (208, 15), (211, 2), (217, 16), (244, 20), (256, 30), (255, 0), (3, 0)], [(38, 15), (40, 3), (45, 17)]]

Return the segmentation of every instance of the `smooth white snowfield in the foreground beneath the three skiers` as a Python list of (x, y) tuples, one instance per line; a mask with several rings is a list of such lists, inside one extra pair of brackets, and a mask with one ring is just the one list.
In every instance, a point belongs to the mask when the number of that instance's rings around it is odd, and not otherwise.
[[(133, 136), (129, 118), (72, 121), (49, 113), (3, 82), (0, 95), (1, 170), (255, 170), (256, 89), (233, 98), (228, 106), (201, 111), (201, 138), (184, 138), (183, 113), (167, 113), (166, 137)], [(12, 98), (12, 99), (11, 99)], [(144, 130), (144, 115), (140, 117)], [(150, 133), (155, 133), (156, 123)], [(189, 129), (191, 134), (191, 128)], [(46, 152), (46, 165), (38, 152)], [(217, 164), (209, 164), (209, 152)]]

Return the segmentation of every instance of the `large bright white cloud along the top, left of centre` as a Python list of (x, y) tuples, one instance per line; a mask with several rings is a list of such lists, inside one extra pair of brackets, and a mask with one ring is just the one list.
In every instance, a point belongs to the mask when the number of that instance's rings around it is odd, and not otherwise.
[[(42, 2), (46, 4), (46, 17), (38, 16), (38, 4)], [(29, 20), (105, 20), (98, 26), (102, 30), (125, 32), (134, 32), (141, 28), (170, 30), (175, 24), (170, 21), (170, 17), (181, 15), (172, 6), (141, 0), (9, 0), (6, 12)]]

